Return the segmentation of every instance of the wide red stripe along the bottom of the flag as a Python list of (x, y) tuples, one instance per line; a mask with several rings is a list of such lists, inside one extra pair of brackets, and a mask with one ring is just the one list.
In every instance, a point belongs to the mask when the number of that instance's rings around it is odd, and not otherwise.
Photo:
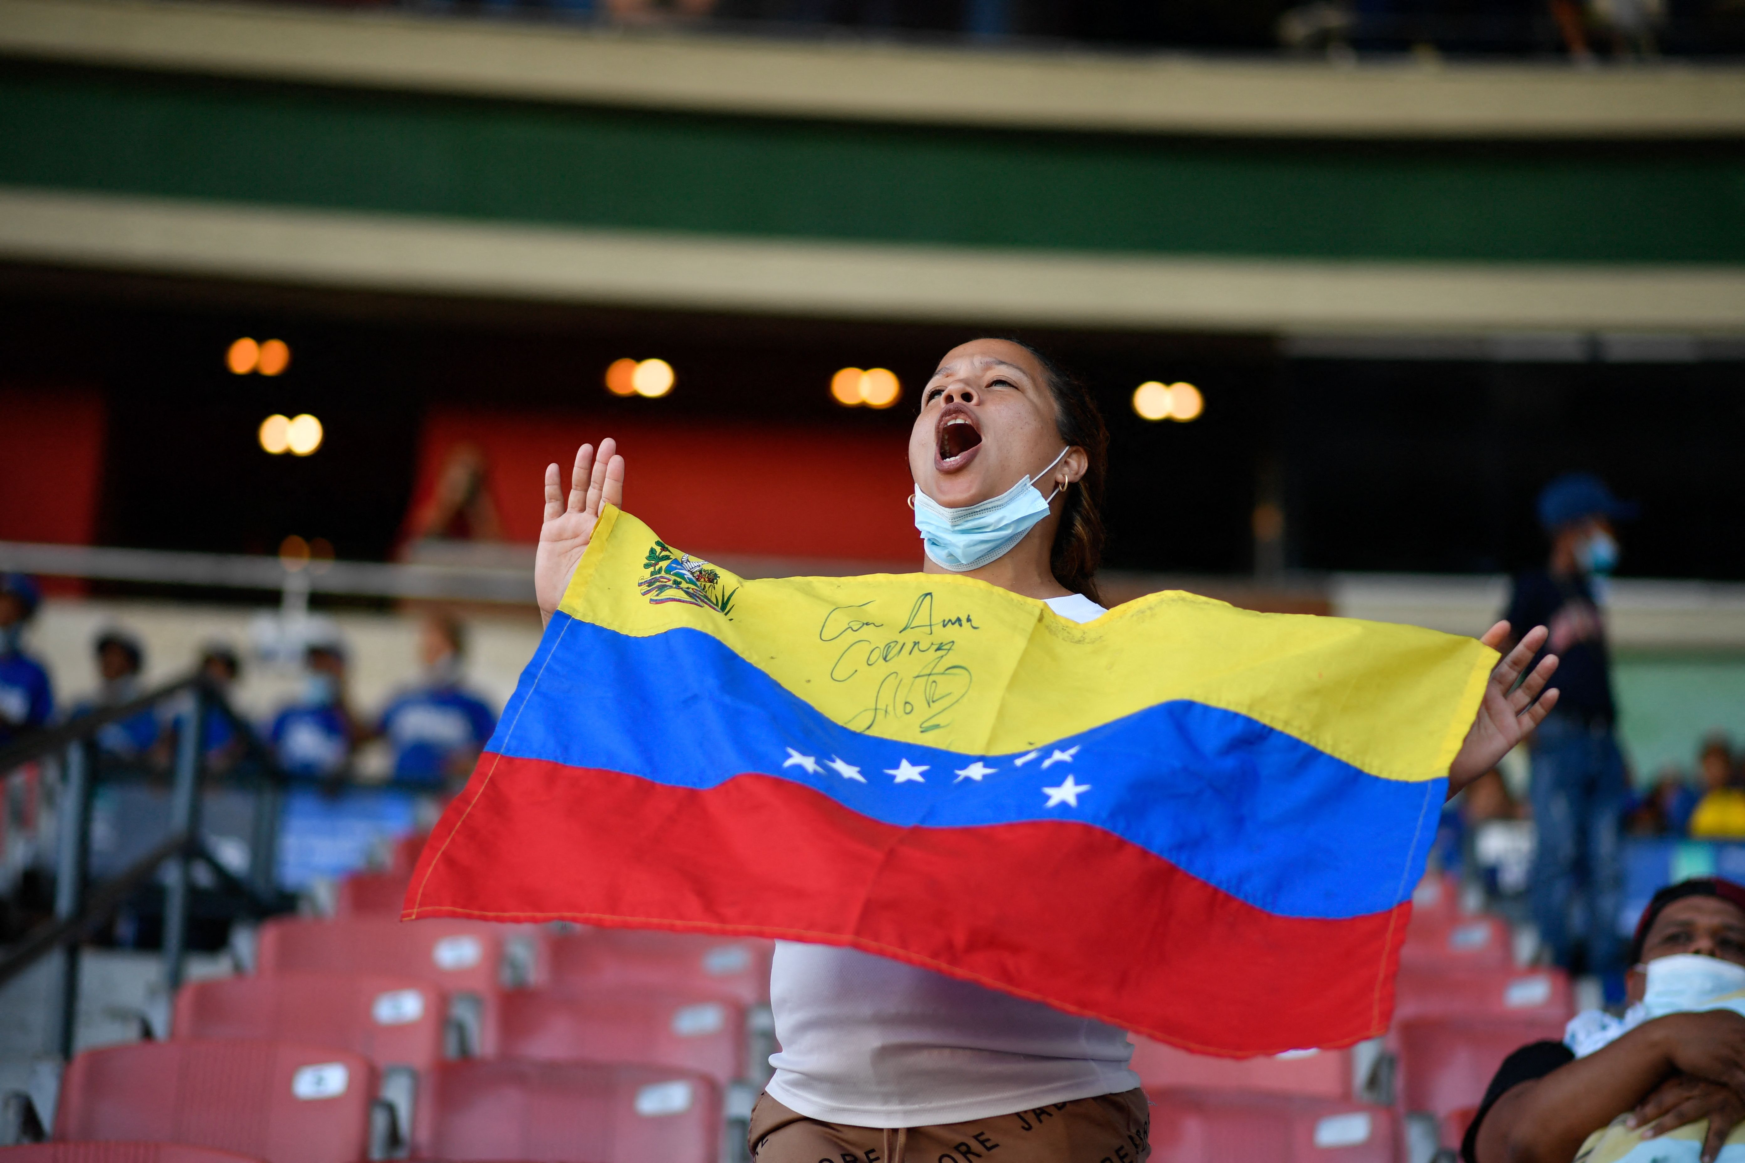
[(759, 774), (695, 790), (485, 755), (424, 846), (405, 917), (853, 945), (1256, 1055), (1386, 1032), (1408, 908), (1279, 917), (1073, 821), (899, 828)]

